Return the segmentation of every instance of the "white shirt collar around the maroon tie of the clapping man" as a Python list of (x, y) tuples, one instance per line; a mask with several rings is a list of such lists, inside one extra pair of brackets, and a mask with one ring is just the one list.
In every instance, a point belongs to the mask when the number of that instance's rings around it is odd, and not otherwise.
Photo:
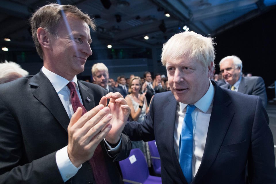
[[(59, 93), (60, 90), (62, 90), (70, 82), (66, 78), (63, 78), (62, 76), (59, 76), (59, 75), (51, 72), (50, 70), (47, 70), (44, 66), (42, 67), (42, 72), (46, 75), (46, 77), (52, 83), (52, 85), (57, 93)], [(76, 75), (74, 76), (74, 78), (71, 82), (75, 83), (76, 89), (78, 90), (78, 80), (77, 80)]]

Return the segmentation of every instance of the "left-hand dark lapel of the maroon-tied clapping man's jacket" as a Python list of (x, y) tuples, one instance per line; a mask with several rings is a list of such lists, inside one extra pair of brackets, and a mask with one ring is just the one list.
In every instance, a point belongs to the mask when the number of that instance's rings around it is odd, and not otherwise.
[(41, 102), (67, 131), (70, 119), (49, 79), (40, 71), (30, 79), (34, 97)]

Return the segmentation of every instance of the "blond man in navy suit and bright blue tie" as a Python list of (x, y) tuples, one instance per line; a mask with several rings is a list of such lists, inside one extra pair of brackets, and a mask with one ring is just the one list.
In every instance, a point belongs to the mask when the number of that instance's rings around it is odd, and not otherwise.
[(175, 34), (162, 49), (171, 92), (154, 95), (145, 120), (129, 122), (131, 140), (156, 140), (162, 183), (276, 183), (274, 144), (261, 98), (209, 78), (212, 38)]

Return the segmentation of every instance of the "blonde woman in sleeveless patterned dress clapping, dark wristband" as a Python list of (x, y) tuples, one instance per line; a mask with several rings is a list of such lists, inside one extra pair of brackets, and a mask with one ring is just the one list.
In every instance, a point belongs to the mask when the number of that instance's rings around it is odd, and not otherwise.
[[(141, 78), (135, 76), (129, 81), (129, 95), (125, 97), (127, 105), (131, 108), (129, 115), (130, 121), (142, 122), (148, 113), (147, 100), (145, 93), (141, 93), (142, 81)], [(132, 149), (139, 148), (146, 157), (148, 166), (150, 167), (150, 151), (149, 146), (144, 141), (132, 141)]]

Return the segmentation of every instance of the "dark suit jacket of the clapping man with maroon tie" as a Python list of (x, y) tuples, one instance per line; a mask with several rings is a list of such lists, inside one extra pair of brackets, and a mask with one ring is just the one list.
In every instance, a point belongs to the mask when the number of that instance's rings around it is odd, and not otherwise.
[[(83, 105), (91, 110), (106, 90), (78, 81)], [(87, 97), (91, 101), (86, 100)], [(0, 183), (64, 183), (55, 153), (68, 145), (69, 117), (49, 79), (39, 72), (0, 86)], [(112, 183), (122, 183), (118, 163), (127, 158), (131, 143), (122, 135), (122, 150), (110, 158), (103, 154)], [(66, 183), (93, 183), (89, 162)]]

